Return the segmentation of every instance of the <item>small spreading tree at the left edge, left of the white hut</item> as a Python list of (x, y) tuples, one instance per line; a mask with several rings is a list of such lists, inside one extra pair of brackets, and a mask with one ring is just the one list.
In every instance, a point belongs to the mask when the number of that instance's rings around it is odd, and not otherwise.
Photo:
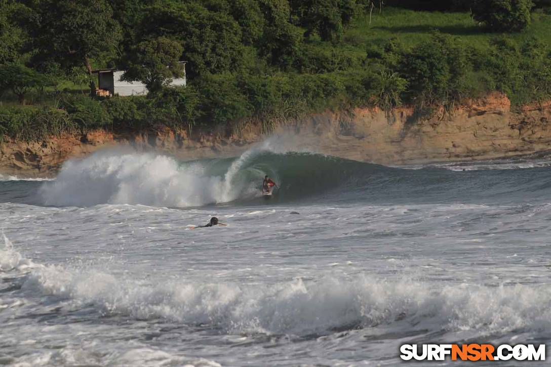
[(30, 90), (53, 84), (51, 78), (21, 64), (0, 66), (0, 88), (12, 90), (21, 104), (25, 104), (25, 95)]

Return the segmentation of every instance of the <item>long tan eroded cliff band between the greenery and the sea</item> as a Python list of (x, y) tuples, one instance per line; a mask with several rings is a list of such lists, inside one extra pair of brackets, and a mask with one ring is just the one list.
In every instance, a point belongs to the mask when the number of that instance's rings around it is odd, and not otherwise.
[[(379, 109), (326, 112), (276, 126), (291, 149), (310, 150), (380, 164), (479, 160), (544, 152), (551, 149), (551, 101), (511, 110), (505, 95), (491, 94), (419, 119), (402, 107), (390, 115)], [(149, 134), (94, 131), (52, 137), (41, 143), (0, 145), (0, 174), (55, 176), (63, 162), (99, 149), (131, 146), (178, 159), (236, 156), (268, 138), (255, 123), (242, 124), (240, 134), (223, 127), (175, 137), (170, 131)]]

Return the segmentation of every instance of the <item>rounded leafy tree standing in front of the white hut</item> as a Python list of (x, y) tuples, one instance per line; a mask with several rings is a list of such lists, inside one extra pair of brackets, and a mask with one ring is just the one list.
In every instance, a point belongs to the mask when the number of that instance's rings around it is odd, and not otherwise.
[(172, 78), (183, 75), (183, 64), (179, 62), (182, 51), (179, 42), (166, 37), (142, 41), (130, 51), (122, 79), (140, 80), (155, 93), (170, 84)]

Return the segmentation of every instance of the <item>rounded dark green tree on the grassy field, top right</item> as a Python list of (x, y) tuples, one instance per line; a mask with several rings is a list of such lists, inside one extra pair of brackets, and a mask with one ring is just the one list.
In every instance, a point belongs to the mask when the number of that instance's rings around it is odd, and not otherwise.
[(473, 0), (474, 20), (498, 32), (519, 32), (531, 21), (532, 0)]

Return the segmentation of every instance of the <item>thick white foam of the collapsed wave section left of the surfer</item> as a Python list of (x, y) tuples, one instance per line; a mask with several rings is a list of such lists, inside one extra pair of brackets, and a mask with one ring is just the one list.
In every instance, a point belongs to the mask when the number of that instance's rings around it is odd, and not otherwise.
[[(231, 180), (231, 177), (226, 177)], [(231, 201), (239, 195), (204, 166), (181, 166), (152, 153), (102, 152), (63, 165), (55, 182), (40, 188), (47, 205), (144, 204), (190, 207)]]

